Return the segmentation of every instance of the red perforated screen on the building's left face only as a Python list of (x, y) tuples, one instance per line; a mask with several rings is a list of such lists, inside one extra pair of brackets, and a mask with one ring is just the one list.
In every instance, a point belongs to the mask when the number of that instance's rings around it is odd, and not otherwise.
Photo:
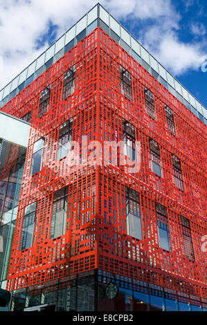
[[(73, 119), (72, 140), (96, 138), (98, 31), (92, 32), (38, 80), (22, 91), (4, 111), (21, 118), (33, 110), (30, 138), (12, 246), (8, 288), (38, 284), (96, 267), (96, 168), (69, 167), (56, 160), (60, 125)], [(75, 65), (75, 91), (62, 100), (64, 73)], [(51, 88), (48, 111), (38, 118), (39, 95)], [(33, 145), (44, 138), (42, 169), (30, 176)], [(53, 193), (69, 186), (66, 234), (50, 239)], [(37, 201), (33, 247), (19, 251), (24, 208)]]

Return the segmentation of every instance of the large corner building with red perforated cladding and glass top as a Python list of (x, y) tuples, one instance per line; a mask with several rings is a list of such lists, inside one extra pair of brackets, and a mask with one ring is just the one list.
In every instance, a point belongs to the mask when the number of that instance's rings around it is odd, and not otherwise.
[(10, 310), (207, 310), (206, 108), (99, 4), (0, 94), (30, 123)]

